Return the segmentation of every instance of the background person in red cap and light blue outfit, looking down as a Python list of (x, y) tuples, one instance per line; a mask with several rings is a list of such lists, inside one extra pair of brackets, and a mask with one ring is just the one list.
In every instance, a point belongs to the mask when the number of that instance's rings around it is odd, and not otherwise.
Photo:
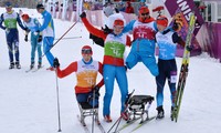
[[(34, 59), (35, 59), (35, 51), (38, 50), (39, 55), (39, 63), (38, 69), (42, 65), (42, 34), (35, 33), (35, 29), (39, 29), (41, 27), (39, 20), (36, 18), (30, 18), (29, 14), (24, 13), (21, 16), (24, 27), (27, 27), (31, 31), (31, 65), (30, 69), (34, 68)], [(28, 41), (28, 32), (25, 34), (24, 41)]]

